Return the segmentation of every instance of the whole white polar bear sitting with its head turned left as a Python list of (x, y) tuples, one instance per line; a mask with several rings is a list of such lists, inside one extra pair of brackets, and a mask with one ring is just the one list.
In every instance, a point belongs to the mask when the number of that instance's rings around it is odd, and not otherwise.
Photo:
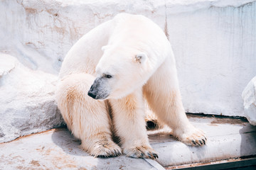
[(169, 40), (149, 18), (121, 13), (90, 30), (65, 56), (59, 77), (58, 108), (95, 157), (158, 157), (146, 134), (144, 101), (178, 140), (206, 144), (184, 112)]

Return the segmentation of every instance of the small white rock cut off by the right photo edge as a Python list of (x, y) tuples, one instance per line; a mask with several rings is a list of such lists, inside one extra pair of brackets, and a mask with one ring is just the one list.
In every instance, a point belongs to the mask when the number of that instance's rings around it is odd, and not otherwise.
[(242, 91), (245, 116), (250, 124), (256, 125), (256, 77), (254, 77)]

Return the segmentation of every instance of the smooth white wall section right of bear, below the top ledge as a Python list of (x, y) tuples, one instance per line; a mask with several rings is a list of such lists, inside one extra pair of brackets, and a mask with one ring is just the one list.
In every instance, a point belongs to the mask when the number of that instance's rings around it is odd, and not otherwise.
[(169, 11), (186, 111), (244, 115), (241, 94), (256, 75), (256, 2)]

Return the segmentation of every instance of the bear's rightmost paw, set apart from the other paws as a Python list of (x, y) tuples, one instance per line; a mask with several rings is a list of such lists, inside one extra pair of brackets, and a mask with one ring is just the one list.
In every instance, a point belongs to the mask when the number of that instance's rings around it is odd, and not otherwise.
[(176, 135), (174, 134), (174, 136), (186, 145), (191, 145), (193, 147), (206, 145), (207, 142), (206, 134), (202, 130), (196, 128), (189, 128), (183, 134), (178, 134), (178, 132), (176, 132)]

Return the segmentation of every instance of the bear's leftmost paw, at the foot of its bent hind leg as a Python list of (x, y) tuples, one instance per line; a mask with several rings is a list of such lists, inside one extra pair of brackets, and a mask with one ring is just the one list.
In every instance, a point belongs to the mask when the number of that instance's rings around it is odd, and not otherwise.
[(94, 157), (117, 157), (122, 154), (122, 149), (114, 142), (112, 142), (111, 144), (108, 143), (105, 145), (95, 145), (94, 147), (92, 147), (92, 149), (90, 149), (89, 153)]

